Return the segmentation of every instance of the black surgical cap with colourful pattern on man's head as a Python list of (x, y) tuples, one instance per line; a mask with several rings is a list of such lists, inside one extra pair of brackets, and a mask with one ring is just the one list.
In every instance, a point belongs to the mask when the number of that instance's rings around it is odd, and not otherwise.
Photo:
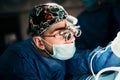
[(35, 6), (29, 15), (29, 33), (43, 34), (52, 24), (66, 19), (68, 13), (56, 3), (45, 3)]

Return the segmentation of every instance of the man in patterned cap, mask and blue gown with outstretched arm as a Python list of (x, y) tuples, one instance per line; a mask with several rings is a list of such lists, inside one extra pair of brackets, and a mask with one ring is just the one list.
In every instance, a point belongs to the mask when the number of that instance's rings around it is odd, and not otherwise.
[(29, 15), (32, 36), (12, 44), (0, 56), (0, 79), (65, 80), (67, 74), (96, 74), (105, 67), (120, 66), (120, 33), (105, 48), (90, 53), (75, 47), (75, 37), (81, 35), (76, 23), (56, 3), (36, 5)]

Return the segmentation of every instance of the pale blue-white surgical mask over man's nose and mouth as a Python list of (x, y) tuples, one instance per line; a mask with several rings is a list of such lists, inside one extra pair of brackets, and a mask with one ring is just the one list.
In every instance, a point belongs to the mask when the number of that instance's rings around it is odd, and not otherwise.
[[(42, 40), (45, 41), (44, 39)], [(48, 43), (47, 41), (45, 42)], [(48, 44), (51, 45), (50, 43)], [(50, 54), (50, 52), (46, 49), (45, 51), (53, 58), (67, 60), (74, 56), (76, 47), (74, 42), (70, 44), (53, 44), (53, 54)]]

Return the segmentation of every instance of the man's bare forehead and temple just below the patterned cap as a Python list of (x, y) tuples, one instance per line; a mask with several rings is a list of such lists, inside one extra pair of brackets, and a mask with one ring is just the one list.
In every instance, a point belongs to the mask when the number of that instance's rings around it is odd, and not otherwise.
[(60, 21), (58, 23), (53, 24), (45, 33), (53, 33), (57, 30), (65, 29), (66, 28), (66, 21)]

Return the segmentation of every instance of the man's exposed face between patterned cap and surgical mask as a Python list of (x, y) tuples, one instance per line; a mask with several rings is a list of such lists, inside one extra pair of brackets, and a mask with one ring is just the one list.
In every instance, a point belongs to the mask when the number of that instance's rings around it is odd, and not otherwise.
[[(70, 44), (75, 41), (74, 34), (66, 29), (66, 21), (61, 21), (53, 24), (44, 34), (43, 38), (45, 41), (53, 44)], [(43, 41), (44, 42), (44, 41)], [(48, 43), (44, 42), (45, 48), (52, 52), (53, 47)]]

